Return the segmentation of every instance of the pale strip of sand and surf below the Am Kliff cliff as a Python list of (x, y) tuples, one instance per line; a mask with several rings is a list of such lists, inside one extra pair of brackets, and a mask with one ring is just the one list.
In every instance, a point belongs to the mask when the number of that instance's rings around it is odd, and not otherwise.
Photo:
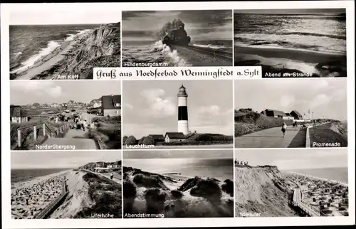
[[(58, 46), (51, 53), (48, 53), (48, 55), (43, 56), (41, 60), (37, 60), (36, 63), (31, 67), (28, 67), (27, 70), (16, 72), (14, 72), (16, 69), (12, 70), (12, 73), (10, 72), (10, 77), (15, 77), (13, 80), (31, 80), (36, 75), (40, 75), (44, 71), (51, 69), (54, 65), (60, 63), (67, 53), (73, 50), (73, 48), (76, 48), (75, 46), (78, 45), (80, 40), (89, 36), (90, 31), (76, 34), (71, 41), (63, 40), (61, 46)], [(47, 78), (53, 78), (53, 76), (48, 75)]]

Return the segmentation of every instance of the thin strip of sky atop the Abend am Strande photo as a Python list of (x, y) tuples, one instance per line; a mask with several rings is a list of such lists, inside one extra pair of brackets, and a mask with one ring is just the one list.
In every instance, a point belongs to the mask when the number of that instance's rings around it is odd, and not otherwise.
[(241, 9), (234, 14), (339, 14), (346, 13), (345, 9)]

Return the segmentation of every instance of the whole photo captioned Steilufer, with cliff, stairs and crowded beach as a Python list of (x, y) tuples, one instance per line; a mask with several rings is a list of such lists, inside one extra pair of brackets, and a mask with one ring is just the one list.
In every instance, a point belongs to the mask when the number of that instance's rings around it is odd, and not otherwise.
[(236, 149), (236, 217), (349, 215), (347, 149)]

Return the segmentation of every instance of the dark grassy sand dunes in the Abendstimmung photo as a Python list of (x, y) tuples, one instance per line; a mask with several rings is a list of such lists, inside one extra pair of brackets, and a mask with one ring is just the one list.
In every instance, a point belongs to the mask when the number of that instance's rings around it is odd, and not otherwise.
[(124, 168), (124, 215), (160, 214), (164, 218), (233, 217), (232, 181), (153, 174)]

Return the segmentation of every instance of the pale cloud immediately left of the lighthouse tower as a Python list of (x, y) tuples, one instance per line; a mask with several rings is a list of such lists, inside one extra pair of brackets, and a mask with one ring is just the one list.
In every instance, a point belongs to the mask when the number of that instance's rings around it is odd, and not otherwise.
[(164, 98), (163, 89), (143, 90), (140, 95), (145, 98), (148, 108), (145, 110), (145, 116), (167, 117), (176, 114), (177, 105), (171, 97)]

